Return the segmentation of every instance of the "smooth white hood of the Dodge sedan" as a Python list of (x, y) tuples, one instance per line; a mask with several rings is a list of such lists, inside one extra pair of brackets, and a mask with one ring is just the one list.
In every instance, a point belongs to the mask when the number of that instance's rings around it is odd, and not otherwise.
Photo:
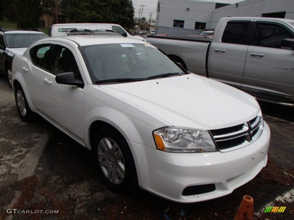
[(179, 127), (230, 127), (253, 119), (260, 111), (252, 96), (194, 74), (100, 87)]

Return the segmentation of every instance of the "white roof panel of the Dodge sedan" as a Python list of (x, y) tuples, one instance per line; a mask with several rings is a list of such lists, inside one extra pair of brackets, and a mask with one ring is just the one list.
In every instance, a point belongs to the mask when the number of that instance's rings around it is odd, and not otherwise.
[(77, 45), (86, 46), (86, 45), (97, 45), (97, 44), (108, 44), (108, 43), (141, 43), (149, 44), (145, 41), (136, 40), (133, 38), (122, 38), (116, 36), (106, 36), (106, 35), (67, 35), (62, 37), (52, 37), (39, 40), (38, 42), (43, 41), (57, 41), (57, 42), (75, 42)]

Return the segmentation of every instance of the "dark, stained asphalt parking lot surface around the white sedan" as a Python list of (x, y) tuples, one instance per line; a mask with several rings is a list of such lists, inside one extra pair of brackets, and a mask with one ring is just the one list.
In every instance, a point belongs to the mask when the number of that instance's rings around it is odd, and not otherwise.
[[(271, 143), (252, 181), (219, 199), (177, 204), (143, 190), (111, 192), (91, 151), (37, 115), (21, 121), (2, 76), (0, 106), (0, 219), (233, 219), (244, 195), (254, 199), (255, 219), (294, 219), (293, 108), (260, 103)], [(286, 208), (264, 213), (267, 206)]]

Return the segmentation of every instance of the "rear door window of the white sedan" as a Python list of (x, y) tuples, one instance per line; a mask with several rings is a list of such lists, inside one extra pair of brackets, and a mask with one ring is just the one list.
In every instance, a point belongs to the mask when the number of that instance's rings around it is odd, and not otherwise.
[(31, 61), (35, 66), (50, 71), (50, 60), (52, 55), (51, 44), (36, 45), (30, 50)]

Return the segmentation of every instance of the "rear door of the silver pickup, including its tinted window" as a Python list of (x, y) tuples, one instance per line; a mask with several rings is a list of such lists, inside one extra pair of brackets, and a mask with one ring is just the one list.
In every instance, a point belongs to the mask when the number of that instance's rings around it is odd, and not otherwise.
[(249, 43), (248, 30), (252, 21), (223, 21), (211, 43), (208, 56), (209, 78), (235, 87), (241, 86)]

